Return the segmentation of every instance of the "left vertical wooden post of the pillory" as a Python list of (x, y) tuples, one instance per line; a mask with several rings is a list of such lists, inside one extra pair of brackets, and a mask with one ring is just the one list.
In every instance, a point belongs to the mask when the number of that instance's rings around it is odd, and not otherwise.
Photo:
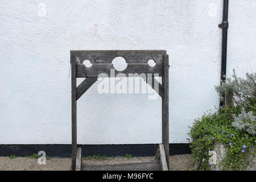
[(72, 170), (76, 170), (76, 56), (71, 56), (71, 92), (72, 92)]

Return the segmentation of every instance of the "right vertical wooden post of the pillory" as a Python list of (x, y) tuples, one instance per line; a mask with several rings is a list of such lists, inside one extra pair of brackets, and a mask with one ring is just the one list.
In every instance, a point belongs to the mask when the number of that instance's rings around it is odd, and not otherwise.
[(162, 142), (166, 153), (167, 166), (169, 168), (169, 57), (164, 55), (164, 97), (162, 98)]

